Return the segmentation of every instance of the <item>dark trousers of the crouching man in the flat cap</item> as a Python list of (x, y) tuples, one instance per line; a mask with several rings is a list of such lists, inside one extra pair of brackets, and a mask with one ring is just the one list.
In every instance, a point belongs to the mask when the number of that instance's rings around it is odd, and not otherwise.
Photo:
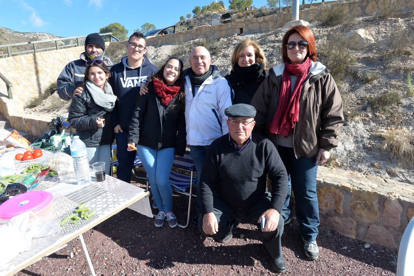
[[(226, 203), (224, 203), (219, 197), (214, 197), (213, 206), (214, 206), (214, 216), (217, 218), (217, 223), (219, 225), (219, 231), (214, 235), (207, 235), (203, 231), (203, 216), (204, 214), (198, 214), (198, 229), (200, 233), (207, 237), (212, 237), (214, 239), (222, 240), (229, 232), (231, 223), (235, 218), (246, 218), (252, 219), (257, 223), (260, 215), (262, 215), (267, 209), (270, 208), (270, 193), (266, 192), (263, 194), (260, 199), (258, 199), (252, 206), (244, 210), (238, 210), (233, 208)], [(262, 232), (263, 235), (263, 244), (265, 245), (267, 252), (273, 258), (282, 257), (282, 242), (281, 237), (283, 234), (283, 217), (279, 216), (279, 224), (277, 225), (276, 230), (272, 232)]]

